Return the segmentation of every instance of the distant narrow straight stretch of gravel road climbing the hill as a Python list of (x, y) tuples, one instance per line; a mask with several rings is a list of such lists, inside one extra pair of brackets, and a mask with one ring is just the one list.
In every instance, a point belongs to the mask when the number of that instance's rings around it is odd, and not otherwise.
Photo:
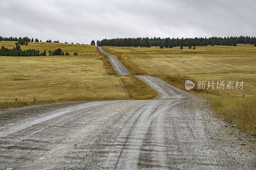
[(131, 73), (124, 67), (124, 65), (116, 58), (116, 55), (111, 55), (103, 50), (102, 47), (97, 46), (100, 52), (108, 55), (109, 61), (112, 64), (113, 68), (119, 75), (131, 75)]

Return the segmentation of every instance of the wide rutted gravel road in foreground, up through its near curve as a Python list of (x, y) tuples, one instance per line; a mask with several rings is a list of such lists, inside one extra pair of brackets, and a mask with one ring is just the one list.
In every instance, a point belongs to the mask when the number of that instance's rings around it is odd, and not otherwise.
[(156, 99), (2, 111), (0, 169), (256, 169), (251, 143), (205, 100), (137, 77), (156, 89)]

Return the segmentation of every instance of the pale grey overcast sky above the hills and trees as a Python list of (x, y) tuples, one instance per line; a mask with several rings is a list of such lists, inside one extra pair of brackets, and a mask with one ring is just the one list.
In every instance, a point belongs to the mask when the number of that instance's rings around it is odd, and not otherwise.
[(90, 44), (124, 37), (256, 36), (255, 0), (0, 0), (0, 35)]

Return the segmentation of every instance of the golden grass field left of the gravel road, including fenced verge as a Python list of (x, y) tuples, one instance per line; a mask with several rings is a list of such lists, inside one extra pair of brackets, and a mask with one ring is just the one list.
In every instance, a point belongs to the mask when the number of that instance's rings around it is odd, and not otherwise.
[[(14, 41), (2, 41), (0, 46), (12, 48)], [(0, 109), (33, 104), (85, 100), (119, 100), (126, 95), (106, 55), (91, 45), (30, 42), (22, 50), (34, 48), (48, 51), (61, 48), (78, 56), (0, 56)], [(88, 53), (88, 54), (87, 54)], [(133, 99), (152, 99), (156, 92), (133, 76), (124, 77)], [(15, 102), (17, 98), (17, 102)], [(126, 99), (126, 98), (125, 98)]]

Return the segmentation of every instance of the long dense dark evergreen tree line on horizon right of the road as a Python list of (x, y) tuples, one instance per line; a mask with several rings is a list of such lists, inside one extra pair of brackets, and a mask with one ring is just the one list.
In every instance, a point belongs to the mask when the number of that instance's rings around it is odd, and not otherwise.
[(103, 39), (97, 41), (97, 46), (116, 46), (116, 47), (158, 47), (163, 45), (165, 48), (173, 48), (177, 46), (189, 47), (189, 46), (207, 46), (207, 45), (221, 45), (221, 46), (236, 46), (238, 43), (242, 44), (254, 44), (256, 38), (248, 36), (240, 37), (209, 37), (209, 38), (115, 38), (115, 39)]

